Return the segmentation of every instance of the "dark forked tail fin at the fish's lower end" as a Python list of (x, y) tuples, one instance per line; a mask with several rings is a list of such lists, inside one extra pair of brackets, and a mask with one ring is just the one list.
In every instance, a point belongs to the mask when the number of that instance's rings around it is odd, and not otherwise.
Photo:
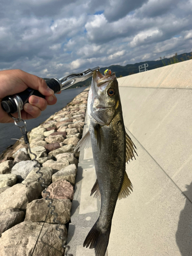
[(110, 238), (111, 226), (106, 231), (102, 231), (97, 226), (97, 221), (93, 225), (92, 229), (89, 231), (86, 240), (84, 240), (83, 247), (86, 246), (90, 249), (95, 248), (96, 256), (104, 256), (106, 252), (106, 248), (108, 247), (109, 238)]

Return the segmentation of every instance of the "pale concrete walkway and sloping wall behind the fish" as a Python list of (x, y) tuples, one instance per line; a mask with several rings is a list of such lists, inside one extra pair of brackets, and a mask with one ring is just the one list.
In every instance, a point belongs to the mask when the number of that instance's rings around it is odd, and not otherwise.
[[(126, 166), (134, 191), (117, 202), (106, 255), (192, 255), (192, 60), (118, 81), (138, 157)], [(74, 256), (95, 255), (82, 247), (100, 211), (89, 197), (94, 182), (87, 149), (80, 153), (69, 228)]]

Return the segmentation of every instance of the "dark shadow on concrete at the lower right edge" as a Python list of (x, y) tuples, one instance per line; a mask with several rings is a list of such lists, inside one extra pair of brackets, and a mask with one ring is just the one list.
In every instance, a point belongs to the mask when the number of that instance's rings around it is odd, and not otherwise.
[[(192, 182), (186, 185), (184, 194), (191, 198)], [(181, 211), (178, 228), (176, 232), (176, 242), (182, 256), (192, 255), (192, 203), (186, 198), (185, 207)]]

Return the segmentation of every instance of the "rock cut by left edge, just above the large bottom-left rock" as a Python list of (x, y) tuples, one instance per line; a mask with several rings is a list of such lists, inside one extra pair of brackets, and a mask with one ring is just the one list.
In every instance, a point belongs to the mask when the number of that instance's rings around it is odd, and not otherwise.
[(7, 229), (24, 221), (25, 212), (18, 209), (6, 209), (0, 211), (0, 237)]

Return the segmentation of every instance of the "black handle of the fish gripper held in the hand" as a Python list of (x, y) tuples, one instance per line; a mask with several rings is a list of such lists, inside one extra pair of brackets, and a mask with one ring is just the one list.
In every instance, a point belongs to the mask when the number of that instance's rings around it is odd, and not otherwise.
[[(48, 87), (54, 91), (54, 93), (58, 93), (61, 90), (61, 83), (57, 79), (44, 78), (44, 80), (46, 81)], [(36, 95), (38, 97), (45, 98), (45, 96), (39, 93), (39, 91), (33, 90), (31, 88), (28, 88), (24, 92), (17, 94), (17, 96), (19, 96), (23, 102), (22, 105), (28, 102), (28, 99), (31, 95)], [(17, 106), (13, 98), (14, 96), (7, 96), (2, 100), (2, 108), (7, 113), (13, 114), (17, 112)]]

